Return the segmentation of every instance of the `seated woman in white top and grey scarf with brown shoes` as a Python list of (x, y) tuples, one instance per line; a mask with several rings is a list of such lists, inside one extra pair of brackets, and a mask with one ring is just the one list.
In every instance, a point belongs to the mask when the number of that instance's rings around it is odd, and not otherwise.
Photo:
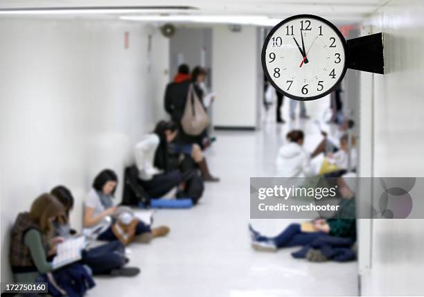
[(109, 169), (101, 171), (94, 179), (85, 199), (83, 233), (87, 237), (109, 242), (119, 240), (126, 245), (133, 240), (150, 242), (169, 233), (168, 226), (150, 228), (136, 218), (117, 217), (118, 208), (113, 202), (117, 184), (116, 173)]

